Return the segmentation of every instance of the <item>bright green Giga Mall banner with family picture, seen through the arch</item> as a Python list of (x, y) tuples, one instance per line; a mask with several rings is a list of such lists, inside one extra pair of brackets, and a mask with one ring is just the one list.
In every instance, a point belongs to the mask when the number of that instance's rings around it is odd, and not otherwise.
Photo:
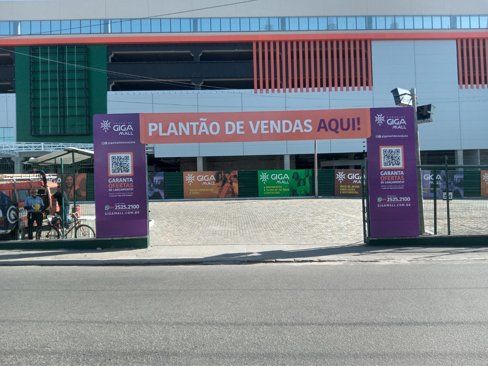
[(258, 170), (259, 197), (314, 196), (312, 169)]

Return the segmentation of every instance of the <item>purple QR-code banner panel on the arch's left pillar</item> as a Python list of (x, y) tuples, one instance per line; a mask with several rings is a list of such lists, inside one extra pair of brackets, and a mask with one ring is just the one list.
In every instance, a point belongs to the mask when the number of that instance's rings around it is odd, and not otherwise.
[(97, 238), (148, 235), (147, 167), (139, 114), (93, 116)]

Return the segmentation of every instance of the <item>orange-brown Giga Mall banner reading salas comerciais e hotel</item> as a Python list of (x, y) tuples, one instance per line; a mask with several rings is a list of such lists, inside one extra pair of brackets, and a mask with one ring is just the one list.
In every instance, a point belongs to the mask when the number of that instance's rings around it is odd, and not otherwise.
[(186, 199), (237, 198), (239, 197), (237, 170), (183, 172), (183, 197)]

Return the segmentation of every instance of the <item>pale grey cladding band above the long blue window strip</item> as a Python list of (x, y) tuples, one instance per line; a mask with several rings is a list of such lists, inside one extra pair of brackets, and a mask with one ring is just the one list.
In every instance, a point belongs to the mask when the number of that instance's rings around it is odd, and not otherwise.
[[(225, 3), (229, 5), (222, 6)], [(174, 17), (187, 18), (488, 13), (488, 3), (485, 0), (404, 0), (401, 3), (391, 0), (302, 0), (300, 6), (297, 6), (296, 1), (266, 0), (257, 4), (251, 3), (249, 6), (249, 3), (221, 0), (15, 0), (0, 1), (0, 20), (140, 18), (173, 13)], [(189, 9), (195, 10), (188, 12)]]

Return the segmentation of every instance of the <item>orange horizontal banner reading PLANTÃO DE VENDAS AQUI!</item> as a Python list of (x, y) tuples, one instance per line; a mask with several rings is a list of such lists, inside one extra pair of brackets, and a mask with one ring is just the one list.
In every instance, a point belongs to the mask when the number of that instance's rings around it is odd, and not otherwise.
[(369, 108), (141, 113), (141, 143), (366, 139)]

